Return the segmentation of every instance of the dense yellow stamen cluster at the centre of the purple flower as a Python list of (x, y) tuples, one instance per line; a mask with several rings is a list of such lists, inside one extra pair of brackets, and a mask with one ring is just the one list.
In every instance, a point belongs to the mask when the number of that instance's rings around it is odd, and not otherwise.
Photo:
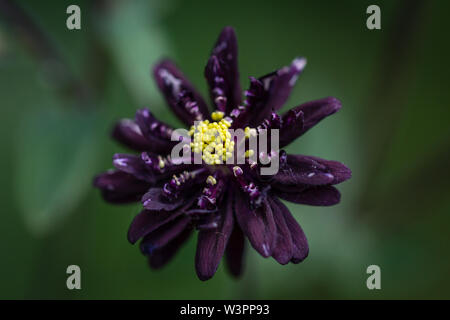
[(189, 131), (189, 135), (193, 136), (192, 151), (201, 153), (203, 161), (210, 165), (221, 164), (233, 156), (234, 141), (231, 141), (228, 131), (231, 123), (223, 119), (223, 115), (220, 111), (213, 112), (211, 118), (214, 122), (200, 121)]

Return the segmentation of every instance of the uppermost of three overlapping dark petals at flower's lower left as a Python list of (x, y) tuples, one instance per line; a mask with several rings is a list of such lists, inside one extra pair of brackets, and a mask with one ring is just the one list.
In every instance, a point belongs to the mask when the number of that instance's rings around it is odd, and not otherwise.
[(131, 222), (128, 241), (136, 243), (140, 238), (177, 218), (182, 212), (182, 210), (171, 212), (142, 210)]

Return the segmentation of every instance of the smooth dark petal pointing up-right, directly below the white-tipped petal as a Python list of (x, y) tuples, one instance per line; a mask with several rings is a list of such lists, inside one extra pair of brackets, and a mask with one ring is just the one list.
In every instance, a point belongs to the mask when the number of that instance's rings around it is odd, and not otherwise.
[[(328, 97), (303, 103), (283, 114), (283, 123), (287, 125), (284, 127), (286, 129), (280, 130), (280, 148), (300, 137), (320, 120), (337, 112), (341, 106), (342, 104), (338, 99)], [(299, 115), (303, 118), (301, 126), (298, 124), (299, 120), (295, 119)], [(295, 130), (289, 124), (294, 124)], [(297, 125), (295, 126), (295, 124)], [(283, 132), (283, 130), (287, 130), (287, 132)]]

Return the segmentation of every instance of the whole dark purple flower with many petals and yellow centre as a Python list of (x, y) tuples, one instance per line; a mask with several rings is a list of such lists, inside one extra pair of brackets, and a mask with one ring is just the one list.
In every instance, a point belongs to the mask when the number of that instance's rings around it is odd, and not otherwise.
[[(134, 244), (142, 239), (140, 249), (151, 267), (166, 264), (193, 230), (198, 231), (195, 267), (201, 280), (214, 275), (224, 254), (229, 271), (239, 275), (245, 237), (263, 257), (271, 256), (280, 264), (306, 258), (305, 234), (280, 199), (334, 205), (340, 194), (333, 185), (349, 179), (350, 170), (336, 161), (272, 149), (265, 157), (279, 161), (273, 175), (260, 174), (258, 169), (264, 165), (250, 160), (253, 150), (246, 151), (244, 164), (224, 163), (236, 149), (230, 129), (244, 129), (247, 138), (258, 136), (261, 130), (278, 129), (283, 148), (340, 109), (341, 103), (330, 97), (277, 114), (305, 64), (305, 59), (296, 58), (290, 66), (250, 78), (242, 102), (236, 36), (226, 27), (205, 68), (215, 106), (212, 114), (172, 62), (156, 65), (156, 82), (169, 106), (189, 126), (190, 149), (202, 155), (201, 163), (171, 157), (178, 143), (171, 140), (174, 129), (141, 109), (134, 120), (119, 121), (113, 131), (116, 140), (140, 154), (115, 154), (115, 169), (94, 181), (106, 201), (142, 202), (143, 210), (131, 223), (128, 240)], [(216, 141), (216, 136), (223, 140)]]

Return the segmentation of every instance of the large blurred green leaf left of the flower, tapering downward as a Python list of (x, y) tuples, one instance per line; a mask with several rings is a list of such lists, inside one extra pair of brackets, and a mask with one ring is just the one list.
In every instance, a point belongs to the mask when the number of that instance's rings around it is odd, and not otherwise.
[(99, 143), (89, 112), (42, 107), (18, 127), (16, 202), (35, 235), (51, 232), (89, 191)]

